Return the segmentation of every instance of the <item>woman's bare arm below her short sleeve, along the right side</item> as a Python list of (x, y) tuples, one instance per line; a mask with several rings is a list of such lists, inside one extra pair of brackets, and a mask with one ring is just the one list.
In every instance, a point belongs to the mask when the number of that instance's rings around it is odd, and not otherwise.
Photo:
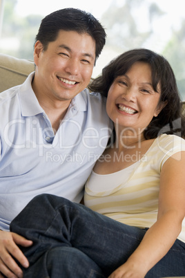
[(185, 216), (185, 151), (174, 154), (162, 167), (159, 211), (156, 223), (148, 229), (128, 261), (109, 278), (143, 278), (164, 257), (182, 229)]

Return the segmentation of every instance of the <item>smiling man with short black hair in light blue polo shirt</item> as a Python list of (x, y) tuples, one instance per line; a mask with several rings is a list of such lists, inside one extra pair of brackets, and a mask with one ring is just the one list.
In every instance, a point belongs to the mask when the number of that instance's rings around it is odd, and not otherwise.
[(86, 12), (52, 12), (36, 37), (35, 73), (0, 95), (0, 272), (6, 277), (22, 277), (13, 257), (28, 267), (17, 245), (32, 244), (9, 232), (14, 216), (41, 193), (80, 202), (106, 148), (105, 100), (85, 89), (105, 37), (99, 21)]

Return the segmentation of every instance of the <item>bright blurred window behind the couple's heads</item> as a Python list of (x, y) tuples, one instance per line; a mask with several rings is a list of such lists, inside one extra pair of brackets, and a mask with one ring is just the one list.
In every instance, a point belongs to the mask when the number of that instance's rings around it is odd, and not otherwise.
[(60, 8), (93, 13), (106, 28), (106, 47), (97, 60), (97, 76), (110, 59), (130, 48), (150, 48), (171, 63), (185, 100), (185, 14), (183, 0), (0, 0), (0, 52), (32, 59), (43, 17)]

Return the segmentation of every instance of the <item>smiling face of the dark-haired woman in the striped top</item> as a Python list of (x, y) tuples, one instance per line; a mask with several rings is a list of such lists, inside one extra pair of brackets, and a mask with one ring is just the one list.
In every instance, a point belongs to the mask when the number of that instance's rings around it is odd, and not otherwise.
[(141, 133), (164, 107), (159, 103), (159, 85), (157, 91), (153, 89), (150, 65), (136, 62), (110, 86), (106, 102), (108, 116), (122, 129)]

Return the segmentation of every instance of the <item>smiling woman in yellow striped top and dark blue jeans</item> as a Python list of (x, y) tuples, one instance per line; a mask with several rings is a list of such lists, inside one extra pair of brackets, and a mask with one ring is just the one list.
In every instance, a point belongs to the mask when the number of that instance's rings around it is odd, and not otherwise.
[(153, 51), (130, 50), (90, 89), (108, 92), (114, 136), (86, 183), (87, 207), (41, 195), (12, 221), (34, 242), (23, 250), (26, 277), (185, 275), (184, 119), (171, 66)]

